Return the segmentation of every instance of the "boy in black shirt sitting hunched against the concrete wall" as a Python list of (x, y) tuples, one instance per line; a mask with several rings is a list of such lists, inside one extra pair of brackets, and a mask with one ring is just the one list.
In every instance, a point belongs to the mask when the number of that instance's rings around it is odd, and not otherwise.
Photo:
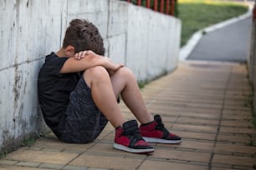
[[(152, 117), (141, 97), (134, 74), (103, 57), (100, 32), (92, 23), (74, 19), (63, 46), (45, 58), (38, 74), (38, 98), (44, 120), (60, 141), (90, 143), (108, 121), (115, 128), (114, 148), (152, 153), (152, 143), (181, 143), (161, 117)], [(125, 121), (119, 95), (137, 120)], [(142, 138), (142, 136), (143, 138)]]

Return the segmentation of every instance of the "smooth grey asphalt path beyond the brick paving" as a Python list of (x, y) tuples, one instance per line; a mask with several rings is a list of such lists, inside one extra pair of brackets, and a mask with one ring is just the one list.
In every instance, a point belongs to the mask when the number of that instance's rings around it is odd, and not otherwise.
[(188, 59), (246, 62), (252, 18), (244, 18), (202, 36)]

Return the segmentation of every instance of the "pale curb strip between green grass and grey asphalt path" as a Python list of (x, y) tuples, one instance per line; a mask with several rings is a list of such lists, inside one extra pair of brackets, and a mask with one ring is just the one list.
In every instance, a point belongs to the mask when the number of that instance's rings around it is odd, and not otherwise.
[(236, 23), (244, 18), (248, 18), (252, 16), (252, 11), (253, 11), (253, 6), (248, 5), (248, 12), (244, 13), (238, 17), (235, 18), (231, 18), (228, 19), (226, 21), (223, 21), (221, 23), (217, 23), (213, 26), (207, 27), (207, 28), (202, 28), (201, 30), (195, 32), (192, 37), (187, 41), (187, 44), (185, 46), (183, 46), (180, 49), (179, 52), (179, 60), (180, 61), (184, 61), (187, 60), (187, 57), (191, 54), (192, 50), (194, 49), (194, 47), (197, 46), (197, 43), (200, 41), (200, 39), (202, 38), (204, 33), (209, 33), (209, 32), (213, 32), (216, 31), (220, 28), (226, 27), (232, 23)]

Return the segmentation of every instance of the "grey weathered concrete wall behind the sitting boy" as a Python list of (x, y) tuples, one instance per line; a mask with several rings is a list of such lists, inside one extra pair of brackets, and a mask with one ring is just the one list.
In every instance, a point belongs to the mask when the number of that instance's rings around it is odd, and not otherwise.
[(117, 0), (0, 0), (0, 153), (48, 129), (38, 107), (38, 70), (73, 18), (95, 23), (106, 55), (140, 81), (177, 67), (176, 18)]

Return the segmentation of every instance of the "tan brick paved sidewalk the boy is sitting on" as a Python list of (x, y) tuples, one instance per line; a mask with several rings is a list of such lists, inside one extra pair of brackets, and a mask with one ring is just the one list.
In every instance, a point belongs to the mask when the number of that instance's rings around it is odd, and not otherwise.
[[(177, 145), (153, 144), (146, 156), (113, 149), (108, 125), (95, 143), (60, 143), (53, 134), (0, 159), (0, 169), (253, 169), (256, 130), (248, 107), (252, 89), (246, 65), (182, 62), (172, 74), (141, 90), (153, 114), (182, 137)], [(121, 103), (125, 117), (133, 118)]]

